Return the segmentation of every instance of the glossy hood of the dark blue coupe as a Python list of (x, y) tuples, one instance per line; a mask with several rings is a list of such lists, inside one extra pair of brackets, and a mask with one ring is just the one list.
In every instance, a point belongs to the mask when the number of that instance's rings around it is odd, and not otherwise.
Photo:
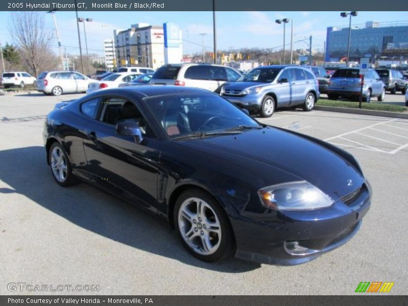
[(257, 173), (263, 176), (261, 184), (285, 183), (282, 179), (279, 181), (279, 175), (284, 171), (282, 176), (288, 177), (290, 173), (292, 181), (307, 181), (334, 200), (358, 189), (365, 181), (358, 169), (330, 149), (272, 127), (238, 135), (185, 140), (180, 144)]

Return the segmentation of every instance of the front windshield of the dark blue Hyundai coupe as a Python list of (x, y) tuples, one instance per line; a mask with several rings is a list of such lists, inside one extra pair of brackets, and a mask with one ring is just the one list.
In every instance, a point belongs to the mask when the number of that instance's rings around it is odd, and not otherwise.
[[(213, 93), (183, 93), (144, 99), (171, 138), (241, 133), (262, 126), (239, 108)], [(185, 136), (185, 137), (183, 137)]]

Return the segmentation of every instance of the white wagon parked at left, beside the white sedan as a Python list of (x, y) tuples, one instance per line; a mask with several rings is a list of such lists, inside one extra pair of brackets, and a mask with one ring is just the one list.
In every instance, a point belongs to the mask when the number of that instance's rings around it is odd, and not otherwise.
[(75, 71), (44, 71), (38, 76), (37, 90), (44, 94), (86, 92), (93, 79)]

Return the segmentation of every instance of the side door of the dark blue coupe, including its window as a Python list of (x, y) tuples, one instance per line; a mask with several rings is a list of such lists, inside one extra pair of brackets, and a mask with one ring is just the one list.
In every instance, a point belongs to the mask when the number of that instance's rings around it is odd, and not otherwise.
[[(91, 180), (122, 198), (157, 212), (159, 140), (136, 101), (123, 96), (104, 96), (102, 103), (104, 108), (98, 120), (85, 127), (88, 138), (84, 140), (84, 149)], [(126, 103), (131, 103), (139, 115), (129, 118), (124, 114), (122, 108)], [(144, 139), (140, 144), (134, 137), (120, 136), (115, 131), (117, 122), (132, 119), (144, 122)]]

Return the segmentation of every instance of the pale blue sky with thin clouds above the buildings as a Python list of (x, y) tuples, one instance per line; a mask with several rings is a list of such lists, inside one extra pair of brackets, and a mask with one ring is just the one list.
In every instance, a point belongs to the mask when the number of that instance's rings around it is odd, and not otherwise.
[[(52, 16), (45, 12), (44, 19), (50, 29), (54, 30)], [(313, 48), (323, 49), (326, 39), (326, 28), (336, 25), (348, 26), (348, 18), (342, 18), (340, 12), (217, 12), (217, 44), (219, 49), (242, 47), (276, 47), (283, 44), (283, 24), (276, 24), (275, 19), (287, 17), (293, 19), (294, 41), (313, 36)], [(11, 13), (0, 12), (0, 41), (12, 43), (8, 32), (8, 21)], [(113, 37), (114, 29), (127, 29), (131, 24), (146, 22), (162, 25), (163, 22), (174, 22), (183, 31), (184, 54), (201, 52), (201, 36), (205, 35), (204, 44), (213, 48), (213, 15), (212, 12), (79, 12), (80, 17), (91, 17), (93, 22), (86, 23), (89, 53), (103, 56), (103, 40)], [(57, 12), (61, 43), (69, 54), (79, 54), (75, 12)], [(408, 20), (407, 12), (359, 12), (352, 17), (352, 24), (366, 21), (404, 21)], [(85, 47), (83, 25), (81, 38)], [(55, 33), (55, 32), (54, 32)], [(290, 23), (286, 26), (286, 43), (290, 42)], [(288, 45), (289, 46), (289, 45)], [(57, 41), (53, 43), (57, 51)], [(308, 43), (297, 42), (294, 48), (306, 48)]]

